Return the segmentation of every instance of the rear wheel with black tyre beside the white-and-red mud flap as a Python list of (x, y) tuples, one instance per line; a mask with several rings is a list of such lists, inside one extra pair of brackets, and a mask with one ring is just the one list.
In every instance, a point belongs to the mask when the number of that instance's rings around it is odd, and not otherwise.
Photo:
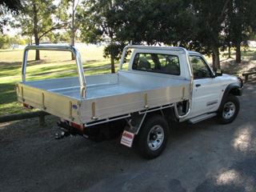
[(160, 115), (146, 118), (135, 138), (135, 147), (143, 158), (157, 158), (166, 148), (168, 124)]

